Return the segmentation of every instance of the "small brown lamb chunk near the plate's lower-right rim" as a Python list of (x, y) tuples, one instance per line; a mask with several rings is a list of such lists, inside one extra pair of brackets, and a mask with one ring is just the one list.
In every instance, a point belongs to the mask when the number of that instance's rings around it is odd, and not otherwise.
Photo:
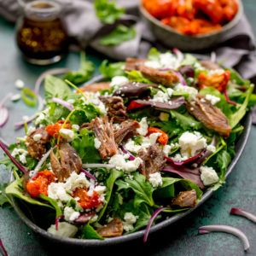
[(193, 208), (196, 205), (195, 189), (180, 192), (173, 200), (172, 206), (181, 208)]

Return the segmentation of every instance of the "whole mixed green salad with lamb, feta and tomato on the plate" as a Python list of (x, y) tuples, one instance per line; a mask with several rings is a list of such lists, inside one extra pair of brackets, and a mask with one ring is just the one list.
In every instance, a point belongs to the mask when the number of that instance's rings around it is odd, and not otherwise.
[(153, 223), (225, 182), (253, 84), (177, 49), (103, 61), (100, 71), (102, 82), (80, 88), (45, 78), (45, 108), (26, 136), (0, 142), (15, 177), (4, 195), (51, 212), (41, 218), (57, 236), (145, 229), (146, 241)]

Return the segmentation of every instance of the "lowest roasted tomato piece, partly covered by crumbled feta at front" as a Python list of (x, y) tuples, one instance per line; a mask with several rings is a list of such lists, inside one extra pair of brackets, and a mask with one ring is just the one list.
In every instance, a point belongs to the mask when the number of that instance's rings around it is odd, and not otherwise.
[(100, 197), (96, 191), (93, 191), (92, 195), (88, 195), (86, 189), (76, 189), (73, 192), (73, 197), (79, 197), (79, 204), (84, 209), (91, 209), (101, 205)]

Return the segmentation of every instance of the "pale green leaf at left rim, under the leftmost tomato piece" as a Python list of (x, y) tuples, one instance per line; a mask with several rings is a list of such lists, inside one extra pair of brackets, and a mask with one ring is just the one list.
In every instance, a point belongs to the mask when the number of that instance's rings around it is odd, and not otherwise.
[(27, 203), (32, 205), (53, 208), (49, 206), (49, 204), (45, 204), (41, 201), (33, 199), (29, 195), (26, 195), (24, 189), (22, 188), (22, 178), (16, 179), (13, 183), (10, 183), (9, 186), (5, 189), (5, 193), (7, 195), (13, 195), (17, 198), (20, 198), (21, 200), (26, 201)]

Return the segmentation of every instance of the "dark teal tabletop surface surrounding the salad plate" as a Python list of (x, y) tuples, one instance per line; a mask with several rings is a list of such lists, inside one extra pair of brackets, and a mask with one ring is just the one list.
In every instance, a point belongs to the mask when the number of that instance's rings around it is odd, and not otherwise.
[[(256, 34), (256, 2), (243, 1), (245, 12)], [(15, 48), (15, 27), (0, 19), (0, 98), (9, 91), (16, 91), (15, 80), (22, 79), (26, 86), (33, 87), (38, 75), (45, 67), (33, 67), (20, 58)], [(90, 56), (96, 64), (102, 56)], [(55, 67), (76, 68), (79, 55), (71, 53), (67, 59)], [(256, 67), (255, 67), (256, 68)], [(17, 91), (18, 92), (18, 91)], [(34, 112), (23, 103), (9, 104), (9, 123), (0, 131), (0, 136), (9, 143), (23, 131), (15, 132), (14, 123), (23, 115)], [(229, 215), (231, 207), (243, 207), (256, 213), (256, 128), (252, 127), (245, 151), (241, 155), (235, 170), (227, 183), (219, 189), (207, 203), (197, 209), (188, 218), (149, 237), (148, 244), (142, 241), (121, 247), (108, 247), (103, 251), (96, 249), (74, 250), (61, 245), (51, 247), (47, 241), (33, 234), (16, 216), (13, 209), (0, 208), (0, 238), (9, 255), (243, 255), (241, 242), (235, 237), (223, 233), (197, 236), (202, 224), (230, 224), (244, 231), (251, 243), (248, 255), (256, 255), (256, 226), (245, 218)], [(55, 253), (56, 252), (58, 253)]]

